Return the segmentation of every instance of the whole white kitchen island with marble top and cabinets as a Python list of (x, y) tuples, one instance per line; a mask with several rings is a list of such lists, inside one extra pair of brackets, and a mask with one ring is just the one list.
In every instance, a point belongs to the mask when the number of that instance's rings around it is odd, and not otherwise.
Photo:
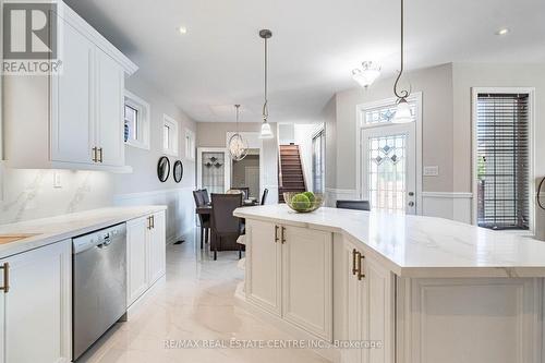
[(544, 242), (386, 213), (270, 205), (234, 215), (246, 219), (243, 303), (334, 343), (323, 355), (542, 362)]

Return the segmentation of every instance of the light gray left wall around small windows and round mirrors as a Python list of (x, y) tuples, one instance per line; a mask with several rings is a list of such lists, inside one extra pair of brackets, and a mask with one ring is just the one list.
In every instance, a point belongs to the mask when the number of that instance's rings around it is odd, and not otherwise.
[[(150, 106), (150, 149), (125, 146), (125, 162), (133, 167), (129, 174), (113, 177), (113, 203), (117, 205), (166, 204), (167, 238), (178, 240), (192, 233), (195, 226), (193, 190), (195, 189), (195, 161), (185, 158), (185, 129), (196, 132), (196, 123), (191, 120), (168, 97), (137, 74), (125, 81), (125, 88), (144, 99)], [(178, 157), (170, 160), (169, 179), (161, 183), (157, 178), (157, 161), (162, 152), (164, 114), (178, 121)], [(183, 178), (175, 183), (172, 167), (182, 160)]]

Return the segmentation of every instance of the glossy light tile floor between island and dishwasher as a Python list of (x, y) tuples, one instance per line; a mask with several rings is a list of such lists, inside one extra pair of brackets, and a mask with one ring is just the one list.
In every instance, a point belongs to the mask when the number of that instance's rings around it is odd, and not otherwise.
[(235, 306), (234, 290), (244, 277), (237, 268), (238, 253), (221, 252), (214, 262), (195, 247), (196, 238), (167, 246), (166, 279), (78, 363), (328, 362), (302, 349), (167, 349), (168, 339), (290, 339)]

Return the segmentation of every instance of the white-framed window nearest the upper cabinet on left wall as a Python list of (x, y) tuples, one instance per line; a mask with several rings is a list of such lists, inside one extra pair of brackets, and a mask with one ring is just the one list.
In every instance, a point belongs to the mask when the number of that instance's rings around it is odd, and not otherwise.
[(149, 149), (149, 104), (125, 90), (123, 111), (125, 144)]

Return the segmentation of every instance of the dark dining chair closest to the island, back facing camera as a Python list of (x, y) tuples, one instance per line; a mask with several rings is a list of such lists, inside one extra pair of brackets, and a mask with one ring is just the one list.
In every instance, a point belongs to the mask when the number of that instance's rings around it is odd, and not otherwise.
[(210, 251), (214, 251), (214, 261), (218, 259), (218, 251), (239, 251), (241, 258), (244, 245), (237, 243), (237, 239), (243, 232), (243, 225), (233, 211), (242, 206), (242, 193), (211, 193), (211, 205)]

